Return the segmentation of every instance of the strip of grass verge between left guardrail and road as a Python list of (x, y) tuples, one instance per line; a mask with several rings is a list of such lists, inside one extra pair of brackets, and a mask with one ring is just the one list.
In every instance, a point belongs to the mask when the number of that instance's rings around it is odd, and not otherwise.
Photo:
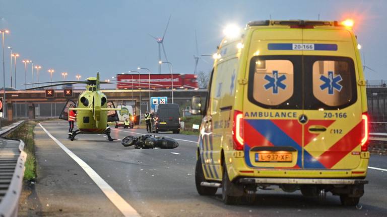
[(24, 171), (24, 180), (34, 181), (36, 178), (34, 128), (35, 121), (26, 121), (16, 130), (7, 135), (7, 138), (20, 139), (24, 142), (24, 151), (27, 153)]

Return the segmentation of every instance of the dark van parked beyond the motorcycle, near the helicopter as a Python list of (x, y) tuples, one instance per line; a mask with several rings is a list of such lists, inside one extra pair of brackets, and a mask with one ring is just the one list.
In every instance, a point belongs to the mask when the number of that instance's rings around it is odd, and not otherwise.
[(158, 104), (155, 107), (155, 132), (180, 133), (180, 107), (178, 104)]

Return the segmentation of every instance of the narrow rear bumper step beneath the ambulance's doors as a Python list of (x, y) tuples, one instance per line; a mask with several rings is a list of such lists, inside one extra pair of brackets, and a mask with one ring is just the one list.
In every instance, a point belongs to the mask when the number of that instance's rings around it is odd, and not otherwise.
[(310, 178), (240, 178), (241, 184), (368, 184), (362, 179), (310, 179)]

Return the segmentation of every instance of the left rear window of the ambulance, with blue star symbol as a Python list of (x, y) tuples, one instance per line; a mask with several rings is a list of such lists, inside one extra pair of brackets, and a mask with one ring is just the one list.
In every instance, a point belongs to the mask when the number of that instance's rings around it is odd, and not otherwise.
[(300, 109), (302, 95), (297, 79), (301, 72), (299, 56), (256, 56), (251, 59), (248, 98), (266, 108)]

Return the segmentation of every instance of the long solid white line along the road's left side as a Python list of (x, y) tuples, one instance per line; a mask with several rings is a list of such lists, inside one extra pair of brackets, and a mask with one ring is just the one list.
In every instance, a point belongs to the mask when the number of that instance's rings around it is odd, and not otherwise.
[(75, 155), (70, 151), (66, 146), (64, 146), (59, 140), (53, 137), (42, 125), (39, 123), (39, 126), (46, 132), (46, 134), (61, 148), (66, 152), (81, 168), (89, 175), (89, 177), (97, 184), (97, 186), (102, 190), (102, 192), (109, 198), (109, 200), (121, 211), (124, 216), (140, 216), (140, 214), (129, 204), (127, 203), (110, 185), (101, 178), (85, 161)]

